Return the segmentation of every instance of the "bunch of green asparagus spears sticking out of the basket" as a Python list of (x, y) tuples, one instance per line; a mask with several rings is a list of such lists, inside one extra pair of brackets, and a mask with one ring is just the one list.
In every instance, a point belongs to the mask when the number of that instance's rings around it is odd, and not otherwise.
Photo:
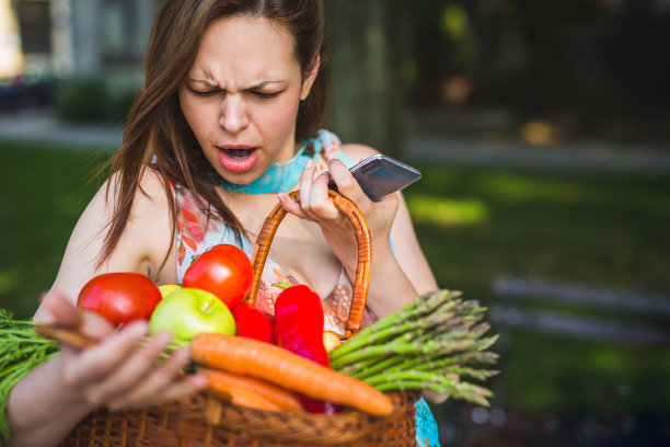
[(382, 391), (416, 389), (488, 406), (492, 392), (465, 378), (486, 380), (498, 371), (486, 351), (498, 339), (485, 336), (486, 308), (460, 291), (426, 294), (377, 321), (331, 352), (331, 365)]

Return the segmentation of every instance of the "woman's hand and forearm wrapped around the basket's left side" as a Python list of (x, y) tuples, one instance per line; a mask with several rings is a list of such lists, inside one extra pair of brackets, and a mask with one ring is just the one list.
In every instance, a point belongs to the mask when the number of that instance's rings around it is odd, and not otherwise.
[(205, 386), (199, 376), (182, 378), (188, 363), (186, 348), (158, 366), (170, 334), (158, 334), (138, 347), (147, 334), (146, 322), (114, 332), (104, 319), (78, 312), (56, 293), (47, 295), (44, 306), (59, 325), (99, 343), (83, 351), (61, 346), (58, 355), (12, 389), (7, 411), (10, 447), (58, 445), (96, 406), (139, 408), (178, 399)]

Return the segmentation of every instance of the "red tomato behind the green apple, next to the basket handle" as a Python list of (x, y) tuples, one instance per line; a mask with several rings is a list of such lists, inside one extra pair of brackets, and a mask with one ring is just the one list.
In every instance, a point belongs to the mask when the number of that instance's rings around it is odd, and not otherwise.
[(235, 245), (219, 244), (200, 254), (184, 273), (183, 287), (215, 294), (229, 309), (251, 291), (254, 270), (251, 261)]

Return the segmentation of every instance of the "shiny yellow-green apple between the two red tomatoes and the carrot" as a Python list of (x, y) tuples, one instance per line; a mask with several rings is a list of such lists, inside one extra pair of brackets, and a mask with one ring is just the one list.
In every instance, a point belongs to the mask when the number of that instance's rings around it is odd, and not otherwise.
[(201, 332), (235, 334), (235, 320), (216, 295), (196, 288), (181, 288), (158, 303), (149, 320), (149, 333), (172, 332), (176, 340), (189, 341)]

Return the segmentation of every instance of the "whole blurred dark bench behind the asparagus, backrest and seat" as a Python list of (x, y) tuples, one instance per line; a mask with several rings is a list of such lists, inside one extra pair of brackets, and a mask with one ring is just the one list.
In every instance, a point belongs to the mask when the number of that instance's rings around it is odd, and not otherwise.
[[(500, 334), (494, 349), (500, 354), (497, 367), (501, 370), (493, 379), (492, 408), (457, 406), (458, 411), (451, 415), (453, 421), (440, 428), (444, 446), (544, 445), (538, 439), (553, 439), (552, 446), (561, 445), (554, 437), (546, 437), (552, 429), (558, 429), (551, 428), (552, 421), (507, 410), (506, 363), (516, 333), (544, 333), (621, 346), (662, 348), (670, 345), (670, 296), (667, 295), (516, 275), (497, 277), (492, 287), (494, 300), (488, 306), (487, 318), (493, 331)], [(598, 439), (613, 429), (594, 421), (587, 422), (579, 425), (582, 437)]]

